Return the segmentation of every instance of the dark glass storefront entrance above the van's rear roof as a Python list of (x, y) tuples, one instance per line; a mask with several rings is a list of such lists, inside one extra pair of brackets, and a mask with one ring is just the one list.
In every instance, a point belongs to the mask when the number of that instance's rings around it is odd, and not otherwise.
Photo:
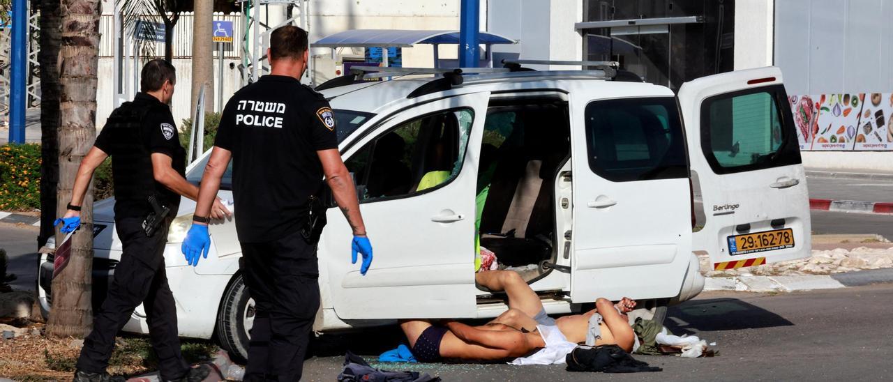
[(616, 61), (647, 82), (683, 82), (733, 70), (734, 0), (588, 0), (586, 21), (697, 17), (584, 29), (588, 61)]

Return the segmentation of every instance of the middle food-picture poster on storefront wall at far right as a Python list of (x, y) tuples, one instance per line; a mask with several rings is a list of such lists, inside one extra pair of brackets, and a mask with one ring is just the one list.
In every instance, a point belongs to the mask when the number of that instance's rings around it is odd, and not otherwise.
[(864, 93), (819, 95), (814, 100), (818, 115), (809, 150), (851, 150), (858, 137), (864, 98)]

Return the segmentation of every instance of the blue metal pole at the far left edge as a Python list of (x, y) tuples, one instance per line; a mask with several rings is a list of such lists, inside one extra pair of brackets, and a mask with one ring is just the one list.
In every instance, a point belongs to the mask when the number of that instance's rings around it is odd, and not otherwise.
[(9, 141), (25, 143), (25, 69), (28, 67), (28, 0), (13, 0), (13, 49), (10, 61)]

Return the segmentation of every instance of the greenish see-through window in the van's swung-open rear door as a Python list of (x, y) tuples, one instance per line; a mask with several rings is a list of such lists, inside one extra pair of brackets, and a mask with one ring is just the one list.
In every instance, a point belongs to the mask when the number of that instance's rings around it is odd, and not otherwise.
[(783, 92), (783, 88), (764, 87), (704, 101), (701, 145), (714, 172), (760, 170), (800, 162), (797, 133), (792, 121), (786, 120), (789, 116), (779, 108), (778, 100), (787, 98)]

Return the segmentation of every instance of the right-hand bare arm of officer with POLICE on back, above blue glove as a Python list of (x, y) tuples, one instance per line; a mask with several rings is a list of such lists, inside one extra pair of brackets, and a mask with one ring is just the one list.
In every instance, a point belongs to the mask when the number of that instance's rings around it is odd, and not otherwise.
[(341, 161), (338, 149), (321, 150), (316, 154), (320, 156), (322, 171), (325, 173), (326, 182), (332, 190), (332, 195), (335, 195), (335, 202), (344, 213), (354, 235), (366, 236), (366, 226), (363, 224), (363, 216), (360, 215), (360, 203), (356, 198), (354, 180), (350, 179), (350, 173), (347, 172), (344, 162)]

